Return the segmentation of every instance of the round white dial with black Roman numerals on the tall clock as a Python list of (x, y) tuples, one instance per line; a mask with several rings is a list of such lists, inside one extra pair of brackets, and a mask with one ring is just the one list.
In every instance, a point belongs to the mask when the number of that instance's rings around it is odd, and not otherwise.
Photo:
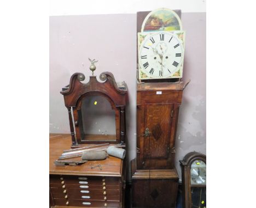
[(183, 54), (183, 44), (173, 33), (151, 33), (140, 46), (140, 69), (148, 77), (171, 77), (182, 65)]

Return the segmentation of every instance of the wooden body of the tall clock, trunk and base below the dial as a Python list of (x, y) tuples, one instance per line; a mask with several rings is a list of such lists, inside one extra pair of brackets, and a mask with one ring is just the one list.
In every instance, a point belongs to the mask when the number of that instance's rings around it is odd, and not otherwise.
[(137, 157), (131, 161), (133, 207), (176, 206), (175, 140), (187, 84), (137, 83)]

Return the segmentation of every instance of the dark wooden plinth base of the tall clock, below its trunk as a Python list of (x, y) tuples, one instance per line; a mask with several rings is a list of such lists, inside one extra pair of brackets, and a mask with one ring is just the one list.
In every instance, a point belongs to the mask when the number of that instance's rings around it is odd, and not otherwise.
[(132, 207), (175, 207), (178, 193), (176, 169), (135, 170), (132, 161)]

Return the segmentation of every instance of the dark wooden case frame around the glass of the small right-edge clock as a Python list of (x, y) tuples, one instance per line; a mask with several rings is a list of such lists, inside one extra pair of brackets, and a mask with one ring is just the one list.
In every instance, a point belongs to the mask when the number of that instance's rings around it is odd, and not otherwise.
[[(190, 179), (190, 168), (191, 164), (195, 160), (201, 160), (206, 164), (206, 155), (200, 154), (199, 152), (189, 152), (185, 155), (184, 159), (179, 161), (182, 166), (182, 200), (183, 200), (183, 208), (192, 208), (192, 195), (191, 188), (206, 188), (206, 185), (191, 185)], [(206, 206), (206, 203), (200, 207)], [(195, 206), (196, 207), (196, 206)]]

